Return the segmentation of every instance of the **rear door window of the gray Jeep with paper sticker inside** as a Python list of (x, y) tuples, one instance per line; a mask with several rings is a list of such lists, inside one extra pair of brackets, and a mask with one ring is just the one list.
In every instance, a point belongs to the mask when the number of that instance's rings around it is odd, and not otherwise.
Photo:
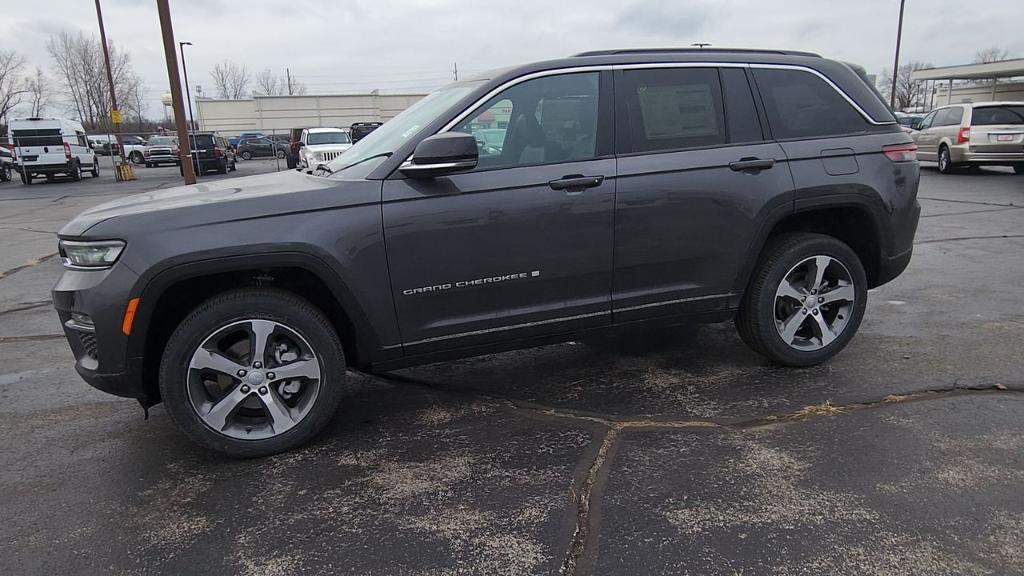
[(629, 123), (629, 139), (624, 143), (629, 151), (657, 152), (725, 143), (718, 70), (627, 70), (621, 85)]

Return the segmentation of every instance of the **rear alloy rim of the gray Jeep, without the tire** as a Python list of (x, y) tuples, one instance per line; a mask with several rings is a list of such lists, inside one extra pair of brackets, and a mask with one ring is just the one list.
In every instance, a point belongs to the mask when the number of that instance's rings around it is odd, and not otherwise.
[(801, 260), (775, 291), (775, 328), (793, 348), (814, 352), (836, 340), (849, 324), (856, 289), (840, 260), (825, 255)]

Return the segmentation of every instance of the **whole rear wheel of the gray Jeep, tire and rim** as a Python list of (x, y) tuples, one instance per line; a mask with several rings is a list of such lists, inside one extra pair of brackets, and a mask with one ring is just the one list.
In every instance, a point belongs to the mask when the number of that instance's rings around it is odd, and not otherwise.
[(774, 362), (813, 366), (846, 347), (866, 303), (864, 268), (849, 246), (820, 234), (786, 234), (765, 247), (736, 328)]

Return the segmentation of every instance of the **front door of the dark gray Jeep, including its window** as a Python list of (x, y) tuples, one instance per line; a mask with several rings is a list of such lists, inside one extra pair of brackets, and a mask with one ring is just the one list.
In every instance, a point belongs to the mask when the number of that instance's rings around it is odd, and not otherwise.
[(609, 322), (609, 82), (591, 72), (515, 84), (455, 127), (477, 136), (476, 169), (384, 182), (407, 354)]

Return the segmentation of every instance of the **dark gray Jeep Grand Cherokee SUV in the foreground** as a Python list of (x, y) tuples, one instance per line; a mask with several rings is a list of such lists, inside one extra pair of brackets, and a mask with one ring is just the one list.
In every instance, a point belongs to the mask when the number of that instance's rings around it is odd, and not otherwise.
[(914, 150), (815, 54), (589, 52), (445, 86), (312, 174), (88, 210), (53, 301), (87, 382), (234, 456), (312, 438), (346, 366), (728, 320), (807, 366), (910, 259)]

